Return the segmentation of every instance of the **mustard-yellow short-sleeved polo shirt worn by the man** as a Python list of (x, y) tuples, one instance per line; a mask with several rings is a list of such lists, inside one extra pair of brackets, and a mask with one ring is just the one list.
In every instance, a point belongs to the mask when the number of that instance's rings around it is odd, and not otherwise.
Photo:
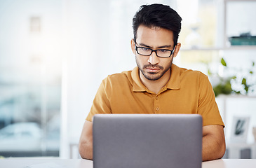
[(107, 76), (86, 120), (92, 121), (97, 113), (197, 113), (203, 117), (203, 126), (224, 126), (208, 77), (175, 64), (158, 94), (142, 84), (137, 67)]

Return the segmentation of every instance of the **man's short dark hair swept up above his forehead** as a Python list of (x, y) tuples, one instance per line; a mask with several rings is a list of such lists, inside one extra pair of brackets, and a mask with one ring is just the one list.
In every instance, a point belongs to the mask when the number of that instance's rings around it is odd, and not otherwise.
[(142, 5), (133, 17), (133, 35), (137, 38), (140, 25), (146, 27), (161, 27), (173, 31), (173, 42), (177, 43), (181, 29), (182, 18), (173, 8), (163, 4)]

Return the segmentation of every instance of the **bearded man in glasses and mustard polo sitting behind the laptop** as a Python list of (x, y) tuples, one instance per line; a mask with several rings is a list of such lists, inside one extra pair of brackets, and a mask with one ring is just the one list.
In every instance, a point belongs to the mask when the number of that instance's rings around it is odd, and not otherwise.
[(203, 161), (222, 158), (224, 124), (208, 77), (173, 64), (181, 44), (180, 15), (169, 6), (141, 6), (133, 18), (131, 48), (137, 67), (110, 75), (97, 91), (79, 142), (82, 158), (93, 159), (96, 113), (198, 113), (203, 117)]

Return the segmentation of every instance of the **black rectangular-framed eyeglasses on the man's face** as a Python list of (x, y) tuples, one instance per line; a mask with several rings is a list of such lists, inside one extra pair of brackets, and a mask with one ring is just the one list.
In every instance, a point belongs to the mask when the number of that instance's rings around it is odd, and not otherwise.
[(152, 52), (156, 52), (157, 57), (170, 57), (170, 55), (173, 54), (173, 51), (175, 50), (175, 47), (176, 47), (175, 45), (173, 50), (166, 50), (166, 49), (152, 50), (151, 48), (137, 47), (136, 44), (137, 43), (135, 42), (135, 50), (139, 55), (150, 56)]

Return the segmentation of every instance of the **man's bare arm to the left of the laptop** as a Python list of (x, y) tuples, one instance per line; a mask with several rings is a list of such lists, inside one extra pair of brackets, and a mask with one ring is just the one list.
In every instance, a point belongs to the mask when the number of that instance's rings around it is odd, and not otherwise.
[(93, 160), (93, 123), (87, 120), (79, 141), (79, 153), (81, 158)]

